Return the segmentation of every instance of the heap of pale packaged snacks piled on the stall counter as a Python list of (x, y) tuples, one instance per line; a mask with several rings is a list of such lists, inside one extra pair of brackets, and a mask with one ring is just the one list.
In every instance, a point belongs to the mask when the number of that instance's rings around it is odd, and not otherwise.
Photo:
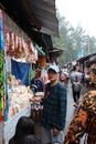
[(8, 73), (9, 83), (9, 117), (12, 117), (22, 110), (34, 96), (30, 86), (22, 85), (20, 80), (15, 80), (14, 75)]

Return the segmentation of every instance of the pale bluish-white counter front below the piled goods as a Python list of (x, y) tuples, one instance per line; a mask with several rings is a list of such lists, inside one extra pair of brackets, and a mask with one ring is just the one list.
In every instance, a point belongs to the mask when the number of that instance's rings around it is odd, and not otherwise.
[(9, 119), (4, 122), (3, 126), (3, 141), (4, 144), (8, 144), (9, 140), (14, 135), (15, 125), (21, 116), (30, 116), (31, 115), (31, 104), (24, 106), (19, 113), (17, 113), (13, 117)]

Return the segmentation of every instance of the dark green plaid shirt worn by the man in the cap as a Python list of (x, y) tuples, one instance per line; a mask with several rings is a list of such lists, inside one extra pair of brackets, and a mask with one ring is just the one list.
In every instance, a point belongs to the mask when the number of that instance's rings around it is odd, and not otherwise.
[(56, 127), (62, 131), (64, 128), (66, 101), (66, 89), (61, 83), (54, 86), (46, 84), (41, 117), (42, 126), (49, 130)]

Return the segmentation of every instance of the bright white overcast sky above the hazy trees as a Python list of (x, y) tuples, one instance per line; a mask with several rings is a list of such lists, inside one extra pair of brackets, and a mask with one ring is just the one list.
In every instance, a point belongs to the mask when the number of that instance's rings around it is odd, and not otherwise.
[(96, 37), (96, 0), (56, 0), (56, 9), (70, 23)]

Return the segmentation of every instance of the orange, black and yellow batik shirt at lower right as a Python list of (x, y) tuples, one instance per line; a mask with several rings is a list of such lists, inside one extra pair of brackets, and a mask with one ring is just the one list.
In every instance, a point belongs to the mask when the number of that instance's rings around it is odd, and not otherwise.
[(96, 91), (86, 93), (79, 109), (70, 124), (64, 144), (79, 144), (87, 133), (87, 144), (96, 144)]

